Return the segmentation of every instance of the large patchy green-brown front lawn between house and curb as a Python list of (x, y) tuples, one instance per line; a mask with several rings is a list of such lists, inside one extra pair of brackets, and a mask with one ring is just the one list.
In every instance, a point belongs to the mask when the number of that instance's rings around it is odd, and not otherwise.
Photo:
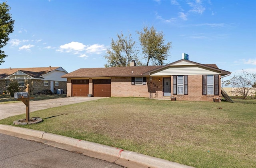
[[(22, 126), (198, 168), (255, 166), (256, 100), (235, 103), (106, 98), (30, 114)], [(12, 125), (25, 114), (4, 120)]]

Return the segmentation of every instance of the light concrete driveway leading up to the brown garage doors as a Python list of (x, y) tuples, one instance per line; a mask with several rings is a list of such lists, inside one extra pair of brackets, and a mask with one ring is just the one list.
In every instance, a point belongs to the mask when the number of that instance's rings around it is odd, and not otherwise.
[[(98, 100), (101, 98), (104, 97), (67, 97), (30, 101), (30, 112), (46, 108), (64, 106), (68, 104)], [(26, 105), (23, 102), (0, 104), (0, 120), (10, 116), (16, 116), (18, 114), (26, 114)]]

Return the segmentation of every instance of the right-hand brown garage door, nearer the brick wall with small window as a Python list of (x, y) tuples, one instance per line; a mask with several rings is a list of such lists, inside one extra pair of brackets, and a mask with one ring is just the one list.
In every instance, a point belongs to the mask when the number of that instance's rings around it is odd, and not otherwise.
[(111, 96), (111, 79), (93, 80), (93, 96), (110, 97)]

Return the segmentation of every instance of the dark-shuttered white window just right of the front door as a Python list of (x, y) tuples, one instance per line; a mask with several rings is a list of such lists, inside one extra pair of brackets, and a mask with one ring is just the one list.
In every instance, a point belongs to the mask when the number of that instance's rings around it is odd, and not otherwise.
[(188, 76), (173, 76), (173, 94), (188, 95)]

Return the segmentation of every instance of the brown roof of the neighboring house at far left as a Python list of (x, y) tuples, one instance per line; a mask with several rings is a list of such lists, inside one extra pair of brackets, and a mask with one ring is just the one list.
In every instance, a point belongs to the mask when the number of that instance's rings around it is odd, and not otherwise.
[[(40, 68), (6, 68), (6, 69), (0, 69), (0, 79), (7, 78), (8, 76), (11, 76), (15, 72), (23, 72), (24, 74), (27, 74), (28, 76), (31, 76), (32, 78), (42, 78), (41, 76), (48, 74), (49, 72), (53, 72), (57, 70), (59, 67), (40, 67)], [(61, 68), (63, 69), (63, 68)], [(66, 72), (66, 71), (65, 71)], [(68, 72), (66, 72), (68, 73)]]

